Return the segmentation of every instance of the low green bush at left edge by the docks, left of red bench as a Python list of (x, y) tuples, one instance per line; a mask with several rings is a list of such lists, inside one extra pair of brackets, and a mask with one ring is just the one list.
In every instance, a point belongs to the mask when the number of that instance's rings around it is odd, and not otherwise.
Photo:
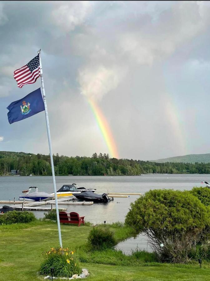
[(35, 215), (27, 211), (9, 211), (0, 216), (0, 224), (29, 223), (33, 220), (36, 220)]

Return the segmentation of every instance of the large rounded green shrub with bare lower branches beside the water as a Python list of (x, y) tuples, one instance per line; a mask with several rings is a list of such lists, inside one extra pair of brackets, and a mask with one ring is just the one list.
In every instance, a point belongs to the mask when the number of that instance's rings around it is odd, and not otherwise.
[[(144, 231), (159, 258), (186, 262), (209, 225), (208, 208), (189, 192), (150, 190), (131, 203), (125, 223)], [(160, 244), (164, 247), (161, 248)]]

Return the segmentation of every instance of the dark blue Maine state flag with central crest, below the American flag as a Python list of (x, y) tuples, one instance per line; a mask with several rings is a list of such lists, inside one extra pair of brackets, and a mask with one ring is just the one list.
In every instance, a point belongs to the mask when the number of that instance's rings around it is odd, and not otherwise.
[(41, 89), (38, 88), (24, 98), (13, 101), (7, 106), (7, 109), (9, 110), (7, 116), (10, 124), (45, 110)]

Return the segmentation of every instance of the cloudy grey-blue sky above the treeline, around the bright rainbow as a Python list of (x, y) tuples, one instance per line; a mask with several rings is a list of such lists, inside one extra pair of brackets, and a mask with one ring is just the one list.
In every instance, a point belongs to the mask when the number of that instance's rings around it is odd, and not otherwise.
[[(151, 160), (210, 148), (210, 2), (0, 2), (0, 150), (48, 154), (44, 112), (6, 107), (40, 87), (13, 71), (42, 48), (54, 153)], [(116, 156), (116, 155), (113, 155)]]

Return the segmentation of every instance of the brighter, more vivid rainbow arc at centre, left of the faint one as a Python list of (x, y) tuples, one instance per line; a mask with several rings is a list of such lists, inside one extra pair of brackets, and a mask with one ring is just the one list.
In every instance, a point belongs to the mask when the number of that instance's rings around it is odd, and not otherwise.
[(99, 126), (102, 136), (104, 137), (105, 143), (109, 149), (110, 157), (120, 158), (117, 150), (117, 145), (105, 116), (93, 100), (89, 99), (88, 102), (90, 104), (91, 110), (93, 111), (95, 120)]

